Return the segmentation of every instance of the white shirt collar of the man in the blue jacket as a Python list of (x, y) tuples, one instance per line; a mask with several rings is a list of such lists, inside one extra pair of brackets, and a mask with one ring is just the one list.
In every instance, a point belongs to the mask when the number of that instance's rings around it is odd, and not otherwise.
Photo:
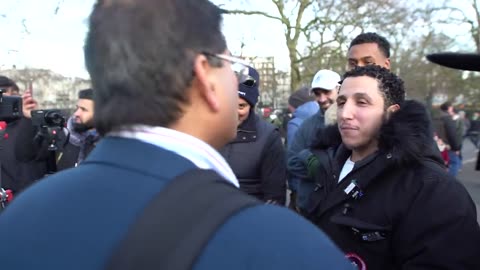
[(200, 169), (212, 169), (227, 181), (240, 187), (237, 177), (225, 159), (210, 145), (191, 135), (164, 127), (136, 125), (129, 130), (114, 131), (107, 136), (137, 139), (172, 151)]

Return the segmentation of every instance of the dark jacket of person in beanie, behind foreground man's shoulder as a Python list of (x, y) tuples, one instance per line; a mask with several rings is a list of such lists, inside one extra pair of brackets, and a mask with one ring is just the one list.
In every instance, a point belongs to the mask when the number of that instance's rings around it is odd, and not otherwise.
[(279, 205), (286, 199), (286, 160), (280, 133), (253, 111), (237, 138), (219, 151), (240, 182), (240, 189)]

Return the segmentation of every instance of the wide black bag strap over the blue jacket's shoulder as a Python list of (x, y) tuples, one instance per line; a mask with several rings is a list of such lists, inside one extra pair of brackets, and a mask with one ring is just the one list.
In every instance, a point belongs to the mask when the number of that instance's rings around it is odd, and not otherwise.
[(260, 203), (212, 170), (187, 171), (144, 209), (107, 269), (191, 269), (220, 225)]

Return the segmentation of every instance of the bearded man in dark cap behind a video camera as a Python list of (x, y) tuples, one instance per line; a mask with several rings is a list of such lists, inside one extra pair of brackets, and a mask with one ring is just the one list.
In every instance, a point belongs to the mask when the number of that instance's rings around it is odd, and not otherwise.
[[(24, 107), (31, 102), (33, 102), (33, 97), (27, 92), (23, 96)], [(37, 113), (34, 112), (34, 114)], [(67, 127), (63, 128), (63, 123), (54, 123), (54, 125), (61, 125), (65, 132), (55, 132), (55, 136), (52, 137), (48, 124), (46, 127), (37, 127), (35, 134), (24, 134), (20, 140), (21, 143), (17, 143), (17, 156), (21, 160), (47, 161), (50, 164), (50, 174), (78, 166), (95, 148), (95, 144), (100, 138), (93, 127), (93, 113), (93, 90), (80, 90), (78, 92), (76, 109), (73, 115), (66, 121)], [(32, 118), (32, 111), (27, 112), (25, 117)], [(40, 117), (44, 121), (47, 118), (57, 118), (56, 114), (52, 114), (51, 117), (47, 116), (45, 111), (40, 116), (34, 115), (33, 117)], [(51, 122), (57, 122), (57, 120), (51, 119)], [(49, 160), (52, 158), (54, 159), (53, 161)]]

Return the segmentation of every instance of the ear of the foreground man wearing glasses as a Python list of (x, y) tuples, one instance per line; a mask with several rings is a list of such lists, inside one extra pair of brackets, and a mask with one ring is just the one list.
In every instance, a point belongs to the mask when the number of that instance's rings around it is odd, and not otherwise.
[(193, 86), (198, 96), (209, 106), (210, 110), (219, 110), (218, 91), (215, 84), (217, 68), (210, 66), (205, 55), (197, 55), (193, 64), (194, 83)]

